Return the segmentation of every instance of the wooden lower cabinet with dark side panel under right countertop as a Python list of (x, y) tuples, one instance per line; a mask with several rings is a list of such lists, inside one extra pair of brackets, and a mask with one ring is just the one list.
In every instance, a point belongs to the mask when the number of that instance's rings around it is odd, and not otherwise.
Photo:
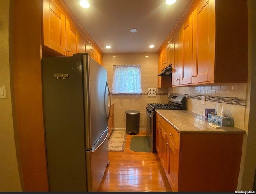
[(237, 189), (243, 134), (173, 130), (156, 113), (156, 151), (172, 191)]

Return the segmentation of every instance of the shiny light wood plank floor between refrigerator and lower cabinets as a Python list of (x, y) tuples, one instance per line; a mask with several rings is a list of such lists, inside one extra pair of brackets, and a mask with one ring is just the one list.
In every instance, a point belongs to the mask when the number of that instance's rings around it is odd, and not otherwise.
[[(137, 135), (145, 136), (146, 131)], [(132, 136), (126, 135), (124, 152), (109, 152), (99, 191), (172, 191), (157, 153), (131, 151)]]

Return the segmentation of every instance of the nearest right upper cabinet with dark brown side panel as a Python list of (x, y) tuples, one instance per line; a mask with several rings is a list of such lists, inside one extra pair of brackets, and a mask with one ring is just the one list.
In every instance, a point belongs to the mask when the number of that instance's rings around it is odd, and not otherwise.
[(246, 82), (247, 3), (202, 0), (193, 12), (192, 83)]

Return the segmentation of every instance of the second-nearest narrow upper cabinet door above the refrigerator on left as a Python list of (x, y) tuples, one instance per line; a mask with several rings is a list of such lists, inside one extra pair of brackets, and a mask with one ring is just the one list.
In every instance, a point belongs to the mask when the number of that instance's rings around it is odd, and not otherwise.
[(68, 51), (67, 56), (73, 56), (73, 54), (78, 53), (77, 36), (78, 31), (74, 25), (66, 18), (66, 47)]

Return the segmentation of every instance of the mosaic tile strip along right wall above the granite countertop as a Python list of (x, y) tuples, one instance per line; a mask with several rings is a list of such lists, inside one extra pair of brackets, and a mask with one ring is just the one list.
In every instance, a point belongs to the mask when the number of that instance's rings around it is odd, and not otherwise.
[[(171, 93), (174, 95), (180, 95), (178, 93)], [(192, 94), (182, 94), (187, 98), (201, 100), (201, 96), (204, 95), (192, 95)], [(216, 102), (216, 103), (224, 103), (230, 105), (239, 105), (245, 107), (245, 99), (239, 99), (237, 97), (226, 97), (226, 96), (205, 96), (206, 101)]]

